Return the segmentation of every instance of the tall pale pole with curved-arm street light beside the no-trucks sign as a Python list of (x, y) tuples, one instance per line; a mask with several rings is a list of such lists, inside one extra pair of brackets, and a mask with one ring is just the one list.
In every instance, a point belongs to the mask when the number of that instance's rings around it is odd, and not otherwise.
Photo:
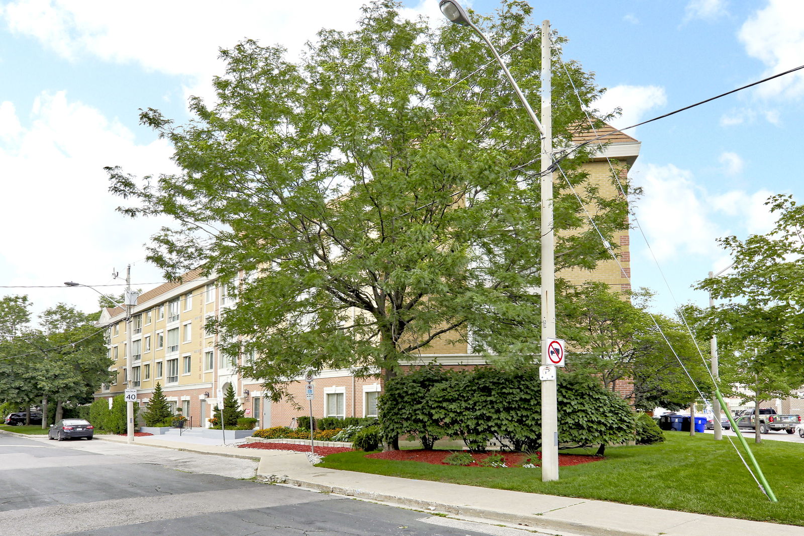
[[(553, 233), (552, 216), (552, 101), (551, 101), (551, 72), (550, 72), (550, 21), (542, 22), (542, 71), (541, 71), (541, 100), (542, 122), (536, 118), (530, 103), (519, 89), (519, 85), (511, 76), (503, 59), (494, 48), (486, 34), (474, 25), (456, 0), (441, 0), (438, 2), (441, 13), (450, 22), (472, 28), (494, 54), (500, 68), (505, 73), (508, 82), (514, 89), (516, 96), (527, 111), (527, 116), (541, 134), (541, 353), (542, 365), (552, 367), (548, 357), (548, 340), (556, 338), (556, 264), (554, 261), (555, 235)], [(558, 418), (556, 402), (556, 375), (551, 379), (542, 380), (542, 480), (558, 480)]]

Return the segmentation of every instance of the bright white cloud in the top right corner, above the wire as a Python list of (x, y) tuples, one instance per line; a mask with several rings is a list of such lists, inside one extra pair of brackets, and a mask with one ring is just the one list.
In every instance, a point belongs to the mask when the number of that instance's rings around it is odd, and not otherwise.
[[(804, 2), (769, 0), (740, 28), (740, 41), (745, 52), (767, 65), (765, 75), (798, 67), (804, 58)], [(796, 72), (759, 86), (763, 97), (801, 96), (804, 75)]]

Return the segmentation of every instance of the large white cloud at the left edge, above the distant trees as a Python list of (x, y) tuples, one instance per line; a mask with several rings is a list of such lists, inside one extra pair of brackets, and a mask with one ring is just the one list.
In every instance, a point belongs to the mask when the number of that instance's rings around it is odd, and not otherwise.
[[(8, 117), (8, 107), (2, 107)], [(13, 109), (12, 109), (13, 110)], [(41, 93), (31, 107), (30, 126), (13, 139), (0, 138), (3, 196), (0, 280), (6, 285), (88, 285), (109, 281), (113, 267), (145, 257), (142, 244), (158, 220), (131, 220), (115, 212), (124, 200), (107, 192), (104, 166), (121, 165), (134, 175), (174, 169), (165, 140), (137, 145), (133, 133), (97, 109), (69, 101), (64, 92)], [(18, 122), (14, 115), (12, 118)], [(137, 281), (158, 281), (144, 263)], [(135, 271), (135, 273), (137, 273)], [(143, 279), (145, 278), (145, 279)], [(35, 302), (57, 301), (96, 307), (92, 291), (44, 289)]]

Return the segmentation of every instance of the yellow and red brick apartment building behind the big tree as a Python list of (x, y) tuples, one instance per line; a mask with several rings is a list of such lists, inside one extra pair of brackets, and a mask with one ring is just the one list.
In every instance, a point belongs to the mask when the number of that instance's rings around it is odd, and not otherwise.
[[(614, 129), (605, 126), (597, 134), (611, 134)], [(596, 134), (580, 134), (576, 142), (594, 138)], [(640, 143), (626, 134), (613, 134), (609, 144), (585, 164), (590, 180), (605, 196), (618, 196), (612, 185), (613, 172), (625, 176), (625, 171), (610, 167), (609, 159), (617, 166), (630, 166), (639, 155)], [(624, 169), (624, 168), (623, 168)], [(619, 263), (614, 260), (600, 262), (593, 271), (566, 270), (560, 277), (580, 284), (601, 281), (613, 291), (630, 289), (630, 248), (627, 229), (615, 237)], [(225, 307), (234, 307), (231, 293), (219, 287), (214, 278), (201, 278), (200, 271), (183, 276), (183, 282), (170, 282), (140, 295), (133, 307), (132, 387), (138, 390), (141, 405), (146, 405), (157, 382), (162, 384), (171, 406), (181, 409), (192, 419), (193, 426), (207, 426), (211, 409), (221, 402), (216, 394), (232, 385), (240, 405), (247, 416), (260, 419), (259, 427), (292, 426), (294, 419), (308, 414), (306, 382), (297, 378), (289, 387), (302, 410), (289, 401), (272, 403), (263, 398), (260, 381), (241, 377), (235, 369), (246, 364), (252, 356), (227, 356), (216, 347), (216, 336), (204, 331), (210, 317), (219, 315)], [(125, 389), (125, 311), (119, 307), (103, 312), (100, 324), (110, 324), (109, 355), (117, 380), (102, 386), (96, 398), (110, 398)], [(559, 328), (560, 329), (560, 328)], [(245, 360), (245, 361), (244, 361)], [(482, 354), (471, 353), (466, 342), (456, 344), (448, 336), (435, 340), (428, 347), (403, 363), (405, 366), (439, 365), (461, 369), (486, 363)], [(314, 379), (313, 414), (317, 417), (369, 417), (377, 414), (377, 397), (382, 392), (379, 377), (355, 377), (348, 369), (325, 370)], [(623, 386), (624, 392), (628, 391)]]

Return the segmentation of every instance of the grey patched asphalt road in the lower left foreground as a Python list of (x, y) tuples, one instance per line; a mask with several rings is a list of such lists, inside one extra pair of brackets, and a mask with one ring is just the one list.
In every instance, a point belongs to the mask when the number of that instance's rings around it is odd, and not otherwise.
[(252, 480), (256, 461), (0, 434), (2, 534), (525, 536)]

